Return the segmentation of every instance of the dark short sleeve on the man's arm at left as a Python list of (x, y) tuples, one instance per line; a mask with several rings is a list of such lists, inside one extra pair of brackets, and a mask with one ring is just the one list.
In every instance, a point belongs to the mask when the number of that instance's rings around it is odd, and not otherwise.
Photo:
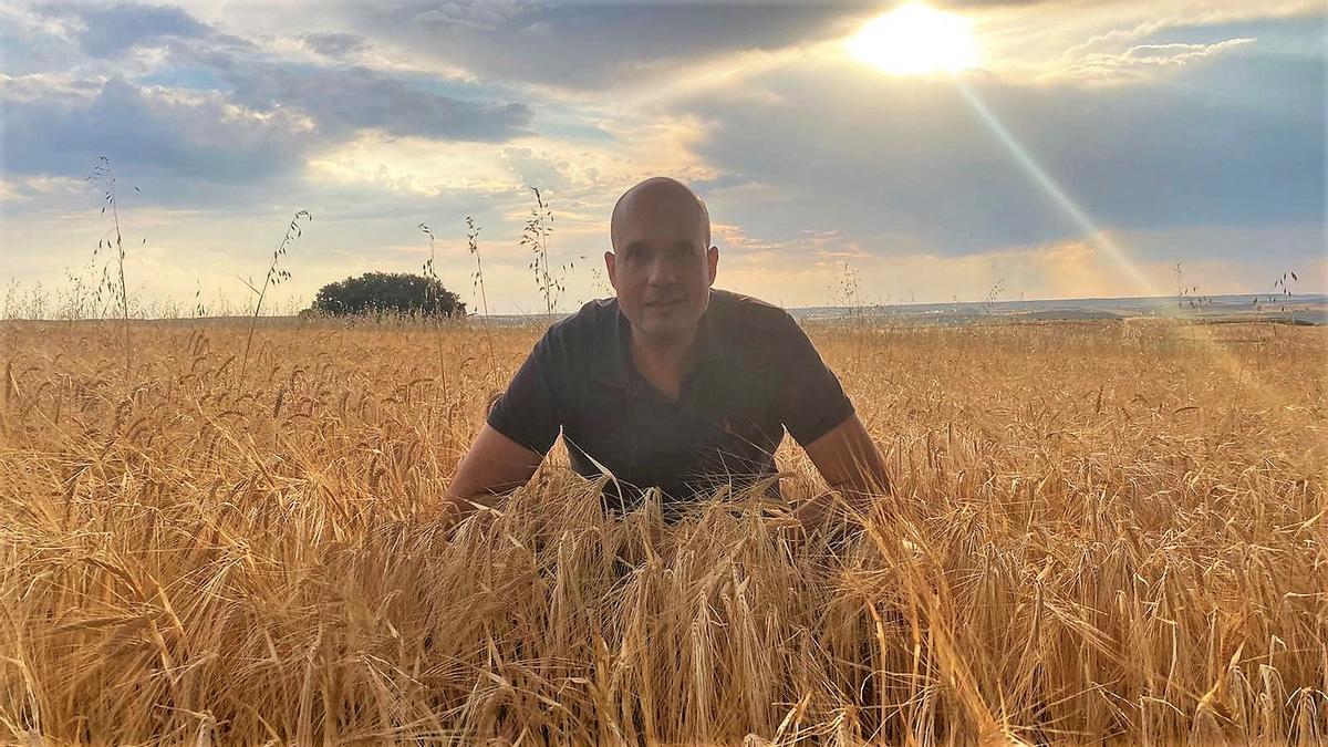
[(489, 409), (487, 423), (518, 444), (548, 453), (562, 425), (558, 412), (552, 339), (544, 334), (521, 364), (507, 391)]

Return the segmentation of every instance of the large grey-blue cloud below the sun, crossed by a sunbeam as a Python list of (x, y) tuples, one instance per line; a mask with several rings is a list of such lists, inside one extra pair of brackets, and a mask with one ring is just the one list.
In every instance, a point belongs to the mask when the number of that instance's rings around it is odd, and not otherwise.
[[(1323, 219), (1321, 61), (1218, 60), (1127, 88), (967, 85), (1100, 225)], [(708, 124), (696, 152), (716, 171), (773, 185), (717, 221), (773, 237), (837, 227), (869, 245), (903, 234), (950, 254), (1082, 233), (947, 81), (825, 61), (744, 85), (777, 96), (710, 93), (660, 114)]]

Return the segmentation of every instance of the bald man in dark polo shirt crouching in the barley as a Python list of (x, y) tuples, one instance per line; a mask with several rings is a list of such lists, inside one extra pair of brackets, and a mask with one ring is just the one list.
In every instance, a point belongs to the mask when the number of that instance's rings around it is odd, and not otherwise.
[[(629, 189), (604, 253), (618, 298), (555, 323), (494, 404), (448, 489), (453, 521), (525, 485), (559, 435), (586, 477), (607, 468), (603, 505), (633, 508), (661, 489), (665, 516), (729, 482), (776, 473), (785, 429), (831, 492), (795, 516), (819, 529), (835, 493), (862, 506), (888, 490), (880, 456), (789, 314), (712, 290), (720, 250), (705, 205), (653, 177)], [(598, 463), (598, 464), (596, 464)], [(777, 482), (776, 482), (777, 490)]]

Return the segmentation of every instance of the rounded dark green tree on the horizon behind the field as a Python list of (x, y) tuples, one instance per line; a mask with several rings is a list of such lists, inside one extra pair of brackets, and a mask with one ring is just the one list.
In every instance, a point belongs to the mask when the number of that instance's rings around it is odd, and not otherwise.
[(365, 272), (319, 288), (313, 311), (320, 314), (367, 314), (396, 311), (465, 316), (466, 304), (433, 278), (405, 272)]

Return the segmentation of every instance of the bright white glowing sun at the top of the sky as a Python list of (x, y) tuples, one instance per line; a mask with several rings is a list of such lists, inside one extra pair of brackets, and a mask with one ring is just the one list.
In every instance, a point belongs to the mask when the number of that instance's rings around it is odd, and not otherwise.
[(977, 43), (968, 21), (920, 3), (872, 19), (846, 43), (849, 52), (887, 73), (924, 76), (977, 65)]

